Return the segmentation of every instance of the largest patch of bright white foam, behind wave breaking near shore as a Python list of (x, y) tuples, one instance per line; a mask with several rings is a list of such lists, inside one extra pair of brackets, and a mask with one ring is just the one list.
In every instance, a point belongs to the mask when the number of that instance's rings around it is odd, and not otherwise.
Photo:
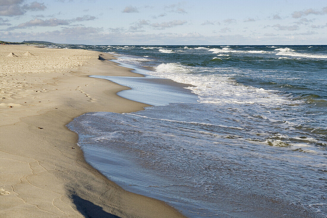
[[(223, 69), (212, 68), (210, 70), (219, 72)], [(197, 73), (192, 73), (193, 71)], [(263, 104), (273, 106), (290, 103), (287, 98), (275, 94), (274, 90), (245, 86), (230, 80), (229, 77), (224, 75), (208, 75), (206, 72), (203, 73), (201, 74), (196, 67), (186, 67), (185, 65), (176, 63), (160, 64), (157, 66), (156, 71), (149, 72), (149, 74), (154, 76), (194, 85), (195, 87), (187, 87), (187, 89), (192, 90), (193, 93), (198, 95), (199, 102), (213, 104)]]

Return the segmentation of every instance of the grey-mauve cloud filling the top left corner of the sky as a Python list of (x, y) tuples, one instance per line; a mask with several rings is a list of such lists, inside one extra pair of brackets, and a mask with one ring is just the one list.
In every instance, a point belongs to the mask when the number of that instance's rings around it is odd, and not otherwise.
[(44, 3), (34, 1), (23, 5), (24, 0), (0, 0), (0, 16), (23, 15), (27, 11), (39, 11), (46, 9)]

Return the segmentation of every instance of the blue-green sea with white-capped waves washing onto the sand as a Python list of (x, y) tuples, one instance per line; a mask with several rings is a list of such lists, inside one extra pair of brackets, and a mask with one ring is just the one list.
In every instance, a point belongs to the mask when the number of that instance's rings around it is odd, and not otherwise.
[(145, 75), (92, 77), (153, 106), (68, 124), (124, 189), (188, 217), (327, 217), (327, 45), (57, 47), (114, 54)]

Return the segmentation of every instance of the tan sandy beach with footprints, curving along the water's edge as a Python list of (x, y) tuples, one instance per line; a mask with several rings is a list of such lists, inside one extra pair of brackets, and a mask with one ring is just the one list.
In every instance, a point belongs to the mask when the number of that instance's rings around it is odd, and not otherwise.
[(148, 106), (115, 94), (128, 87), (88, 77), (140, 76), (99, 54), (0, 45), (0, 217), (182, 217), (92, 168), (65, 126), (86, 112)]

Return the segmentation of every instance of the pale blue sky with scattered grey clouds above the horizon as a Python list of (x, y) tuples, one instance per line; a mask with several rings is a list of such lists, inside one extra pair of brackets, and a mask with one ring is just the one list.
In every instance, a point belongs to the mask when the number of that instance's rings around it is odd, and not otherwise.
[(326, 0), (0, 0), (0, 40), (326, 45)]

